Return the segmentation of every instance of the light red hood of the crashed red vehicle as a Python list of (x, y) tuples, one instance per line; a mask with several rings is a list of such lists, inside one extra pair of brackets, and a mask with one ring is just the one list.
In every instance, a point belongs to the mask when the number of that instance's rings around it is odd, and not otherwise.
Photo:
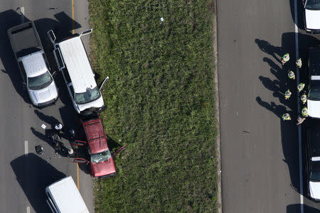
[(116, 172), (112, 157), (101, 163), (91, 163), (92, 176), (99, 178)]

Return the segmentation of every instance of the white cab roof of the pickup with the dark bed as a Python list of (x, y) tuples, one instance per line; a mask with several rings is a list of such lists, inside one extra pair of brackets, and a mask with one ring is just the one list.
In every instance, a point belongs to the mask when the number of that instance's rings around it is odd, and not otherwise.
[(26, 55), (21, 58), (27, 77), (35, 77), (48, 71), (41, 51)]

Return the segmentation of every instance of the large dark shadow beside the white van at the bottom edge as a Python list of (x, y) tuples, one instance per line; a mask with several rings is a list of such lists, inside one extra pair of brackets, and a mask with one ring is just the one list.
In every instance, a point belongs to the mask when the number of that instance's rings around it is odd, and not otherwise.
[(35, 212), (50, 212), (46, 203), (46, 187), (65, 178), (65, 174), (34, 153), (21, 155), (10, 165)]

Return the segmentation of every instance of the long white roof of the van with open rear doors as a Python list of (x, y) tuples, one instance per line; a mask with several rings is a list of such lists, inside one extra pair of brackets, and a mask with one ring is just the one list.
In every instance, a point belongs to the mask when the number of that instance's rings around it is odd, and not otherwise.
[(80, 36), (63, 40), (59, 43), (59, 47), (75, 92), (86, 92), (87, 88), (97, 87), (95, 76)]

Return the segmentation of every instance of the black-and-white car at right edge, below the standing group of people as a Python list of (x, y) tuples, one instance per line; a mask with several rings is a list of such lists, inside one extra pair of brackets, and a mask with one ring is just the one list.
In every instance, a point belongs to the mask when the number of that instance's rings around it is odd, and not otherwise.
[(308, 195), (320, 201), (320, 126), (311, 126), (306, 131), (306, 184)]

